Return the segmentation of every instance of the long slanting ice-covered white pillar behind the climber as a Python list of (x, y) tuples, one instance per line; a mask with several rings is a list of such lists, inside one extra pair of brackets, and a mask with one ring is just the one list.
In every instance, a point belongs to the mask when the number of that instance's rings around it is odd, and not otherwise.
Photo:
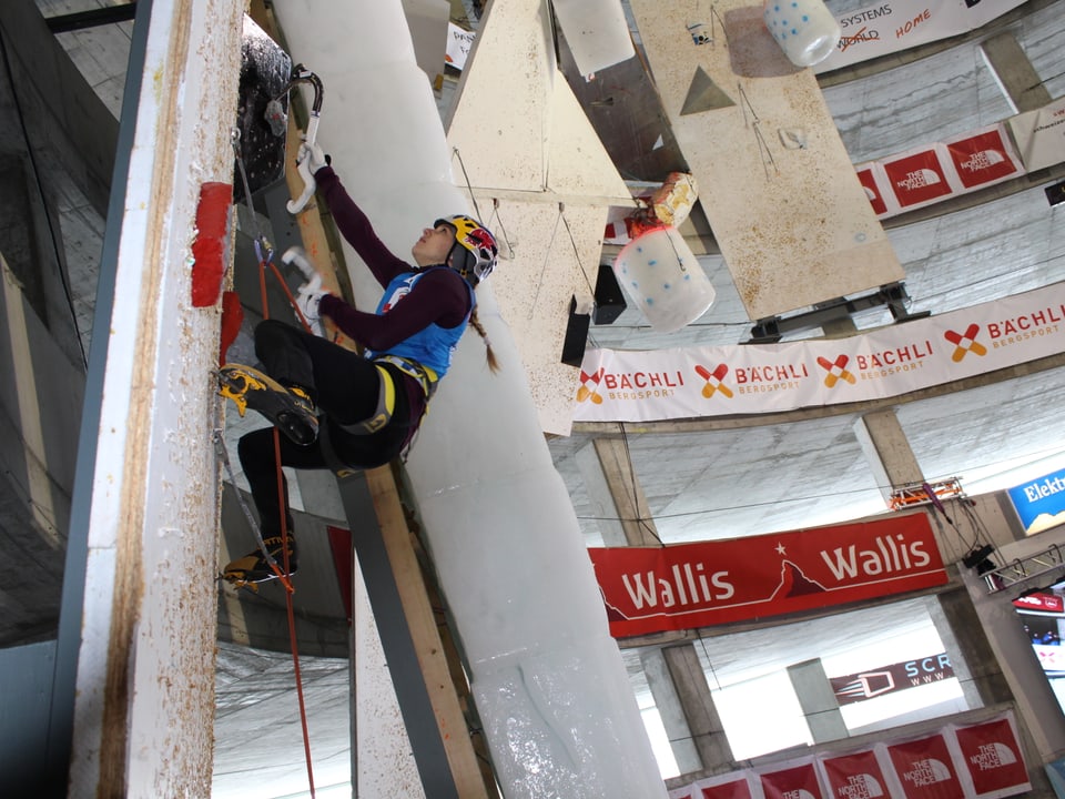
[[(382, 240), (405, 255), (433, 220), (471, 210), (399, 1), (275, 9), (294, 60), (325, 84), (318, 141)], [(369, 307), (379, 289), (346, 255)], [(508, 799), (665, 797), (491, 281), (478, 299), (503, 373), (470, 331), (408, 469), (497, 777)]]

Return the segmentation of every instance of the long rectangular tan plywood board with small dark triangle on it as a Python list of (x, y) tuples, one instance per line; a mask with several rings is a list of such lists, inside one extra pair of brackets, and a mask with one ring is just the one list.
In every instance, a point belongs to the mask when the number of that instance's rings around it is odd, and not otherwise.
[[(752, 320), (904, 276), (813, 72), (787, 61), (761, 9), (632, 0), (666, 113)], [(697, 44), (689, 28), (700, 24), (708, 41)], [(714, 101), (700, 105), (693, 94)]]

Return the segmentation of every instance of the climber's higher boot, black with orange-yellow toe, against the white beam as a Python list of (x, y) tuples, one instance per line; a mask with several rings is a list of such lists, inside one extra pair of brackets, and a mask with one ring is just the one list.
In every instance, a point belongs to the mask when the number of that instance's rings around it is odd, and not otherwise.
[(296, 444), (307, 446), (318, 437), (314, 403), (298, 386), (291, 388), (251, 366), (226, 364), (219, 370), (219, 393), (244, 415), (257, 411)]

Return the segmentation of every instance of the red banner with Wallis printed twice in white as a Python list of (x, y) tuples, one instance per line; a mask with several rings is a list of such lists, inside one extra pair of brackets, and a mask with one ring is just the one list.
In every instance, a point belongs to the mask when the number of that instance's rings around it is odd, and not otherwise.
[(811, 610), (947, 580), (924, 513), (588, 554), (615, 638)]

